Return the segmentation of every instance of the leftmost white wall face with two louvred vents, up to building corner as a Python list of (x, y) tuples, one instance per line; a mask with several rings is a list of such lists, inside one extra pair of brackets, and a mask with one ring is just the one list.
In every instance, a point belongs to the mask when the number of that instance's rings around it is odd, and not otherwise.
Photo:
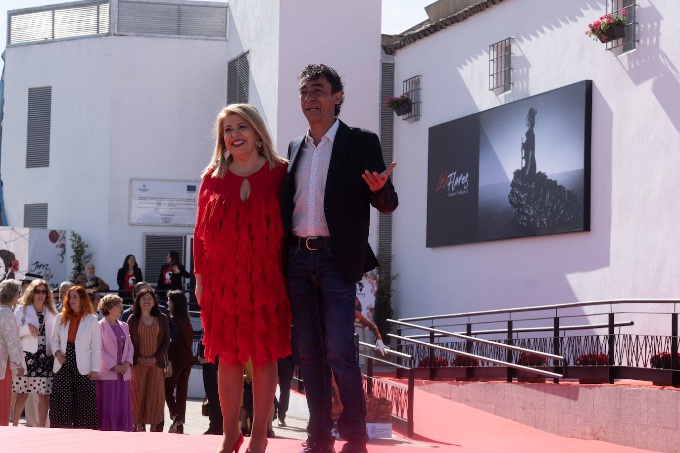
[[(90, 244), (105, 242), (111, 52), (109, 38), (7, 48), (1, 168), (10, 225), (23, 225), (24, 204), (46, 202), (48, 227), (84, 233)], [(28, 91), (40, 86), (52, 86), (50, 166), (26, 168)], [(95, 260), (108, 252), (91, 250)]]

